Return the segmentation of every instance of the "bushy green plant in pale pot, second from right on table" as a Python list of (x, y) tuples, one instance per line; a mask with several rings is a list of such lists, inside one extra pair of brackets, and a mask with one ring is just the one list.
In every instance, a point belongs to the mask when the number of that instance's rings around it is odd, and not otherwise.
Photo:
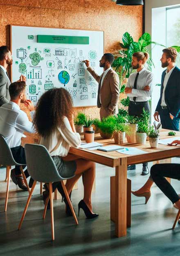
[(137, 123), (137, 132), (136, 132), (136, 143), (137, 144), (146, 144), (148, 132), (148, 125), (143, 121), (139, 120)]

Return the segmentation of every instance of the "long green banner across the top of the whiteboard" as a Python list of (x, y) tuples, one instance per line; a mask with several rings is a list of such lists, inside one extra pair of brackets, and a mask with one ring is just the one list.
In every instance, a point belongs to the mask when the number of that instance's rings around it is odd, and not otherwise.
[(38, 35), (38, 43), (47, 43), (47, 44), (89, 44), (89, 37)]

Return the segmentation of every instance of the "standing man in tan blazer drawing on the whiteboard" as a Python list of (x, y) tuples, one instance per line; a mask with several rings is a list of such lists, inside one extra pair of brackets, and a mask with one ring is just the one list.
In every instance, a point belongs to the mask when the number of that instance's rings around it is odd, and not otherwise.
[(105, 53), (102, 56), (99, 60), (99, 67), (103, 67), (104, 72), (99, 76), (90, 66), (90, 61), (84, 60), (87, 70), (99, 83), (97, 107), (100, 108), (101, 120), (108, 115), (118, 113), (119, 76), (111, 67), (113, 61), (114, 56), (111, 53)]

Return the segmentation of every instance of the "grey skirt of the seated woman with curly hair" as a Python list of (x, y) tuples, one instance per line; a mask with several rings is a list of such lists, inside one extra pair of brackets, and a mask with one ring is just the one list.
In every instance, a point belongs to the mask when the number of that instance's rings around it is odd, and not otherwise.
[(52, 157), (59, 175), (63, 178), (69, 178), (75, 176), (76, 171), (76, 161), (63, 161), (59, 156)]

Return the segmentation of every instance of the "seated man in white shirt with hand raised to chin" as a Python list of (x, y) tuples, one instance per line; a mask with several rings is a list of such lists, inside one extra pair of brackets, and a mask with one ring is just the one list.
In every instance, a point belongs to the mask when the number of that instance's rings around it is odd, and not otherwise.
[[(25, 149), (20, 145), (23, 132), (34, 132), (32, 122), (29, 121), (26, 113), (20, 110), (20, 104), (24, 103), (31, 111), (30, 114), (34, 115), (34, 105), (32, 101), (26, 99), (25, 90), (26, 83), (24, 81), (11, 83), (9, 85), (11, 100), (0, 107), (0, 134), (4, 136), (11, 148), (15, 161), (20, 164), (26, 164)], [(25, 176), (29, 177), (27, 170)], [(11, 170), (11, 179), (21, 189), (27, 190), (19, 166), (15, 166), (15, 169)], [(32, 179), (30, 181), (29, 183), (32, 183)], [(29, 187), (32, 186), (29, 184)]]

